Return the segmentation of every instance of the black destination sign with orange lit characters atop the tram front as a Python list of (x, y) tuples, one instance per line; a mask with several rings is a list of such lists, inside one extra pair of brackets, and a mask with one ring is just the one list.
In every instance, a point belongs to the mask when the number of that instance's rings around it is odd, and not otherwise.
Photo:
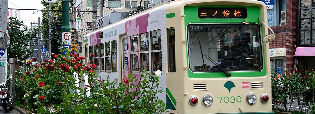
[(198, 8), (199, 18), (247, 18), (246, 8)]

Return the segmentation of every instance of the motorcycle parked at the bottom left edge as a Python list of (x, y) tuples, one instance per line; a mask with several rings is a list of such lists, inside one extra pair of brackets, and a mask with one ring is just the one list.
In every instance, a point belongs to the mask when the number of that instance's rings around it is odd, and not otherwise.
[[(10, 76), (10, 79), (12, 79), (12, 76)], [(0, 99), (1, 99), (1, 106), (2, 110), (4, 110), (5, 113), (9, 113), (9, 111), (13, 110), (13, 104), (12, 96), (10, 95), (10, 88), (7, 87), (7, 83), (11, 82), (13, 80), (7, 80), (6, 82), (2, 82), (0, 84)], [(0, 111), (2, 111), (0, 110)]]

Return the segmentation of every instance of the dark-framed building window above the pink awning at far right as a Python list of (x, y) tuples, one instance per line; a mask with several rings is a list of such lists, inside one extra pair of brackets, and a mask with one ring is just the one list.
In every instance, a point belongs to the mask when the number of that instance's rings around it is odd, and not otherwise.
[(298, 9), (298, 43), (302, 46), (315, 45), (315, 1), (300, 0)]

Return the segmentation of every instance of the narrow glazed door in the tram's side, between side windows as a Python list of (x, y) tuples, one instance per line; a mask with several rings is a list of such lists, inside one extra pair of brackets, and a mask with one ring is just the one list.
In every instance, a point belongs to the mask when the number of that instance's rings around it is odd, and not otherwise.
[(128, 75), (128, 39), (127, 39), (127, 34), (121, 35), (121, 49), (122, 49), (122, 54), (121, 54), (121, 60), (122, 60), (122, 72), (121, 72), (121, 79), (123, 79), (124, 75)]

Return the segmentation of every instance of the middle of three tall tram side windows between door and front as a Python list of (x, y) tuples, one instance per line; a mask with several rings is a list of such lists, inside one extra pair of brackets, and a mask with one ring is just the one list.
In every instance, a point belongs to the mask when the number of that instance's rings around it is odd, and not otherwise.
[(140, 68), (150, 73), (150, 57), (149, 57), (149, 33), (140, 34)]

